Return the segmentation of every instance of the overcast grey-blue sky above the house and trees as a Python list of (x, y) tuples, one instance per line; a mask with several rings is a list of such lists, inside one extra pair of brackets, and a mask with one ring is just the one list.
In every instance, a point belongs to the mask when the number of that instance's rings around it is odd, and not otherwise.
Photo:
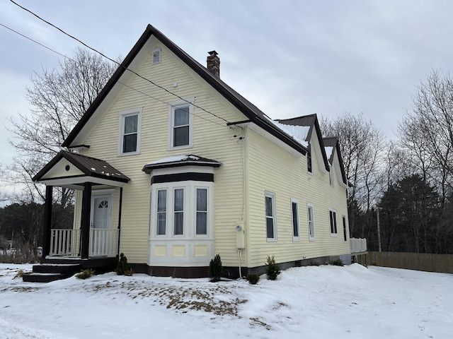
[[(453, 1), (16, 0), (109, 57), (125, 57), (148, 23), (273, 119), (363, 113), (394, 138), (411, 96), (453, 63)], [(75, 40), (1, 0), (0, 24), (71, 56)], [(0, 26), (0, 164), (11, 163), (8, 118), (29, 109), (33, 71), (62, 57)]]

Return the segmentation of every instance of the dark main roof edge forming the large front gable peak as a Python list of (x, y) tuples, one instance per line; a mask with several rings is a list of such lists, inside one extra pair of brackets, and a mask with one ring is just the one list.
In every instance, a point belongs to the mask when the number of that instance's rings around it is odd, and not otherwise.
[[(226, 98), (226, 100), (231, 102), (231, 104), (234, 105), (234, 107), (236, 107), (237, 109), (239, 109), (239, 111), (246, 115), (249, 121), (260, 126), (265, 131), (268, 131), (268, 133), (279, 138), (281, 141), (291, 146), (298, 152), (302, 154), (306, 153), (307, 149), (304, 145), (301, 145), (298, 141), (294, 140), (294, 138), (288, 136), (287, 133), (279, 129), (275, 124), (273, 124), (270, 121), (270, 119), (268, 119), (268, 117), (263, 112), (260, 111), (260, 109), (258, 109), (258, 107), (256, 107), (251, 102), (246, 100), (245, 97), (237, 93), (235, 90), (229, 87), (229, 85), (226, 85), (226, 83), (220, 80), (218, 76), (214, 76), (213, 73), (211, 73), (204, 66), (195, 61), (195, 59), (190, 57), (189, 54), (185, 53), (183, 49), (180, 49), (180, 47), (176, 46), (176, 44), (174, 44), (171, 40), (168, 39), (168, 37), (166, 37), (152, 25), (147, 25), (147, 29), (143, 32), (142, 36), (139, 38), (139, 40), (134, 45), (129, 54), (127, 54), (127, 57), (125, 57), (124, 61), (122, 61), (121, 65), (118, 67), (117, 71), (115, 71), (112, 78), (110, 78), (110, 80), (105, 85), (101, 93), (98, 95), (98, 97), (96, 97), (96, 100), (93, 101), (91, 106), (86, 110), (86, 113), (79, 120), (79, 123), (76, 124), (71, 133), (69, 133), (69, 136), (62, 143), (63, 147), (69, 148), (71, 148), (71, 146), (74, 147), (74, 145), (71, 145), (71, 143), (74, 141), (76, 136), (87, 124), (88, 120), (93, 116), (94, 112), (96, 112), (96, 109), (98, 109), (103, 100), (105, 100), (105, 97), (107, 97), (108, 93), (110, 93), (110, 91), (113, 90), (115, 85), (117, 85), (117, 81), (120, 80), (120, 77), (122, 76), (123, 73), (125, 73), (127, 67), (129, 67), (134, 58), (137, 57), (137, 54), (142, 49), (144, 44), (153, 35), (160, 42), (162, 42), (168, 49), (170, 49), (171, 52), (176, 54), (177, 57), (184, 61), (185, 64), (187, 64), (191, 69), (193, 69), (193, 71), (195, 71), (195, 73), (197, 73), (203, 80), (209, 83), (212, 86), (212, 88), (217, 90), (217, 92), (223, 95)], [(238, 123), (239, 122), (245, 121), (238, 121)]]

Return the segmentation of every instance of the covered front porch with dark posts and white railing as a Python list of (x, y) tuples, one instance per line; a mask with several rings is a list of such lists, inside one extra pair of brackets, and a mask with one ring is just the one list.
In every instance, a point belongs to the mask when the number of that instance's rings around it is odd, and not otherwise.
[[(104, 160), (61, 151), (33, 180), (46, 185), (41, 263), (74, 264), (81, 269), (98, 270), (115, 267), (120, 245), (122, 189), (129, 178)], [(71, 228), (52, 228), (54, 187), (77, 192)]]

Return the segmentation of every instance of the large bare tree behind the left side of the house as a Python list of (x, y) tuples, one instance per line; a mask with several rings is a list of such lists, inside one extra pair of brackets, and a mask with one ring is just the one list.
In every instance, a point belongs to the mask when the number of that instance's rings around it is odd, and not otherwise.
[[(16, 134), (10, 142), (18, 152), (10, 167), (13, 174), (10, 180), (23, 185), (30, 201), (44, 198), (42, 187), (31, 178), (62, 150), (62, 142), (115, 69), (116, 64), (77, 48), (71, 59), (59, 63), (59, 69), (42, 69), (42, 73), (33, 74), (33, 87), (27, 88), (27, 99), (33, 109), (29, 114), (10, 119), (10, 130)], [(62, 189), (59, 196), (62, 206), (71, 198), (72, 192)]]

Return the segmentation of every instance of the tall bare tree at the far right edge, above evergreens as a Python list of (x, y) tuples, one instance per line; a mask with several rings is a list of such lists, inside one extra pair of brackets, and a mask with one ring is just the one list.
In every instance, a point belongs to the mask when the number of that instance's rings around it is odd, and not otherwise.
[(437, 187), (442, 205), (453, 190), (453, 78), (432, 71), (418, 86), (413, 109), (398, 126), (401, 143), (425, 181)]

